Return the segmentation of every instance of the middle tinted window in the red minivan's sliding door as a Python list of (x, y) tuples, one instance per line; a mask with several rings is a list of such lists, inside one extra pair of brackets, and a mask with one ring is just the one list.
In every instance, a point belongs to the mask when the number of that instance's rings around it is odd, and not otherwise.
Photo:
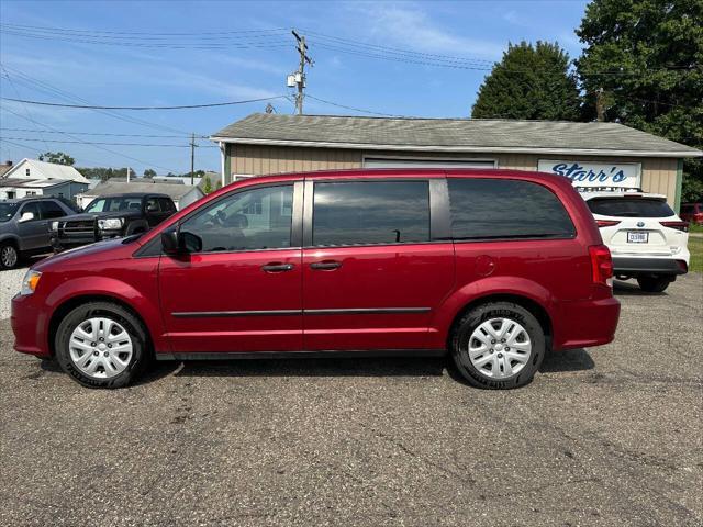
[(427, 181), (315, 183), (313, 245), (429, 239)]

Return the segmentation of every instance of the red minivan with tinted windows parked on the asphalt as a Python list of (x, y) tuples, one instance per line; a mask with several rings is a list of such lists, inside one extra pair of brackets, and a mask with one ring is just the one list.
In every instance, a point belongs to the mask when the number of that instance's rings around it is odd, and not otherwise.
[(613, 339), (620, 303), (568, 179), (512, 170), (252, 178), (141, 235), (41, 261), (15, 349), (91, 388), (148, 359), (450, 354), (471, 384), (528, 383), (549, 349)]

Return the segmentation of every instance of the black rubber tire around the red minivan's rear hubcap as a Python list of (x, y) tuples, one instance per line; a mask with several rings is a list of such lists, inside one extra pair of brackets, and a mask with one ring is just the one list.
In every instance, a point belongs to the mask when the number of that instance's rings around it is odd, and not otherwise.
[[(492, 318), (506, 318), (517, 322), (529, 336), (532, 350), (527, 362), (515, 374), (502, 379), (492, 379), (481, 373), (469, 358), (469, 340), (475, 329)], [(475, 307), (455, 326), (451, 336), (451, 356), (461, 375), (473, 386), (489, 390), (510, 390), (532, 382), (546, 354), (545, 332), (539, 321), (526, 309), (512, 302), (492, 302)]]

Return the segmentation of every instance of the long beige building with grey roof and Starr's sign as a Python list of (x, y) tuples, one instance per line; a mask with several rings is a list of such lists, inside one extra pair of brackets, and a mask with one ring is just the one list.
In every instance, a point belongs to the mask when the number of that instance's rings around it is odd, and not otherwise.
[(456, 167), (540, 170), (579, 187), (641, 188), (677, 210), (703, 152), (617, 123), (253, 114), (221, 130), (222, 183), (266, 173)]

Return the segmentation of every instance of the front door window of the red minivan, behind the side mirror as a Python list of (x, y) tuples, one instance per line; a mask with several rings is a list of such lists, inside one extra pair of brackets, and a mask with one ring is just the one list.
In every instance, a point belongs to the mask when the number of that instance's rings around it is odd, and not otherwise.
[(200, 236), (204, 253), (290, 247), (293, 186), (245, 190), (186, 220), (180, 229)]

